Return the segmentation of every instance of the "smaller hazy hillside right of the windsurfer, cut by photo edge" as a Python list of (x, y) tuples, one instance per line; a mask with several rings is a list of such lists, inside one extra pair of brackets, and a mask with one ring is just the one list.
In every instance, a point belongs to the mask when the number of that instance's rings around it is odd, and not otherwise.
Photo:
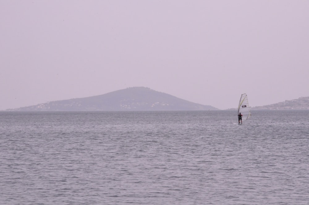
[(301, 97), (271, 105), (252, 107), (252, 110), (309, 110), (309, 97)]

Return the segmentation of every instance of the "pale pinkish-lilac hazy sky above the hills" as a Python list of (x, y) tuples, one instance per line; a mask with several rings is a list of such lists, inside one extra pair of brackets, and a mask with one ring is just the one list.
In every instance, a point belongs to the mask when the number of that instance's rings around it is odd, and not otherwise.
[(309, 96), (308, 0), (0, 0), (0, 110), (145, 86), (219, 109)]

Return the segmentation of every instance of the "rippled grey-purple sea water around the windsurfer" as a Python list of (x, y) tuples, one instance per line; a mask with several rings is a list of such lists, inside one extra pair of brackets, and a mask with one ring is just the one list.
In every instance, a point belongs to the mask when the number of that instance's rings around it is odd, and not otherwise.
[(0, 112), (0, 204), (308, 204), (309, 111)]

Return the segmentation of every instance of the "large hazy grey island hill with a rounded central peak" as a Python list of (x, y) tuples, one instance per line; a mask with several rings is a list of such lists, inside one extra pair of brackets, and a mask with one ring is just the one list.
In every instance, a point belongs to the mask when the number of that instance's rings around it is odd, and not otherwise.
[(131, 87), (86, 98), (58, 100), (7, 111), (218, 110), (145, 87)]

